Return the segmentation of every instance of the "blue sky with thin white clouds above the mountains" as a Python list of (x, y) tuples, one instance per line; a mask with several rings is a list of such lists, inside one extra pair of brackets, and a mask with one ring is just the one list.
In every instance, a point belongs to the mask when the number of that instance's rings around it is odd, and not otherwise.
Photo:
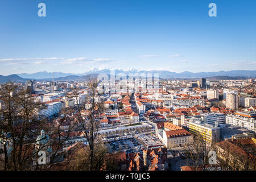
[(255, 9), (255, 0), (1, 0), (0, 75), (255, 70)]

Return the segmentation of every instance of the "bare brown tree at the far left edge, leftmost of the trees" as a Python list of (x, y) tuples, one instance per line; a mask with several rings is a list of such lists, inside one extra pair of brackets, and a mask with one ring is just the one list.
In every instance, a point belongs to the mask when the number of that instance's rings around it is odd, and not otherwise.
[(10, 146), (9, 152), (6, 152), (10, 154), (5, 155), (7, 169), (30, 169), (38, 134), (36, 131), (45, 124), (37, 114), (43, 104), (35, 101), (26, 89), (18, 88), (11, 82), (3, 85), (1, 95), (1, 138), (7, 140)]

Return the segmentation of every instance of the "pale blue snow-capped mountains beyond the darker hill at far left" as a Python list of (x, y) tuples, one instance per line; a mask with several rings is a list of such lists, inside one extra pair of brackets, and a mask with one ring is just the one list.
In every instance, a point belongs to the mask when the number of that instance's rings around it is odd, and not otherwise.
[[(84, 76), (88, 74), (100, 74), (105, 73), (107, 75), (110, 75), (111, 69), (91, 69), (88, 72), (81, 73), (81, 74), (73, 74), (73, 73), (62, 73), (62, 72), (38, 72), (33, 74), (27, 74), (27, 73), (21, 73), (18, 74), (18, 76), (22, 78), (33, 78), (33, 79), (48, 79), (51, 78), (54, 75), (54, 78), (65, 78), (67, 76)], [(229, 77), (245, 77), (245, 78), (255, 78), (256, 77), (256, 71), (246, 71), (246, 70), (235, 70), (235, 71), (219, 71), (219, 72), (182, 72), (182, 73), (176, 73), (176, 72), (170, 72), (170, 71), (155, 71), (155, 70), (138, 70), (138, 69), (115, 69), (115, 75), (118, 73), (124, 73), (126, 75), (129, 74), (148, 74), (151, 73), (152, 76), (154, 76), (155, 73), (158, 73), (160, 78), (202, 78), (202, 77), (216, 77), (216, 76), (229, 76)], [(75, 77), (73, 77), (75, 78)]]

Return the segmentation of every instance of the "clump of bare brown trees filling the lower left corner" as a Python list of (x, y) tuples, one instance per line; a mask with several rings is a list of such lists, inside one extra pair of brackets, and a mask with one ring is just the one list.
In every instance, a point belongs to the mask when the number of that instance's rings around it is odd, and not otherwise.
[[(0, 143), (5, 149), (5, 169), (34, 170), (51, 167), (61, 154), (71, 129), (63, 135), (60, 125), (43, 119), (38, 113), (45, 109), (46, 105), (36, 101), (35, 97), (22, 87), (11, 82), (4, 84), (1, 96)], [(34, 163), (37, 162), (39, 151), (49, 148), (49, 163), (38, 167), (38, 163)]]

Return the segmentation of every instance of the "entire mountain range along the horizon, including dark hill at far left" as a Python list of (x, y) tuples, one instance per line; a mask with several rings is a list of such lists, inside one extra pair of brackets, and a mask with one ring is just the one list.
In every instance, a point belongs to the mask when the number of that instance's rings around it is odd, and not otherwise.
[[(37, 72), (32, 74), (27, 73), (20, 73), (17, 75), (9, 75), (9, 76), (2, 76), (0, 75), (0, 82), (25, 82), (27, 79), (35, 79), (35, 80), (44, 80), (44, 81), (51, 81), (52, 77), (54, 76), (54, 80), (56, 81), (75, 81), (75, 80), (82, 80), (84, 79), (85, 75), (92, 75), (97, 76), (100, 73), (105, 73), (106, 75), (110, 75), (111, 69), (91, 69), (88, 72), (80, 73), (80, 74), (74, 74), (74, 73), (63, 73), (63, 72)], [(138, 73), (138, 75), (141, 74), (148, 74), (151, 73), (152, 76), (154, 76), (154, 73), (159, 74), (159, 78), (211, 78), (216, 80), (221, 80), (221, 78), (224, 79), (240, 79), (240, 78), (255, 78), (256, 77), (256, 71), (246, 71), (246, 70), (235, 70), (235, 71), (219, 71), (219, 72), (182, 72), (182, 73), (176, 73), (176, 72), (169, 72), (169, 71), (154, 71), (154, 70), (138, 70), (138, 69), (129, 69), (129, 70), (123, 70), (123, 69), (115, 69), (114, 70), (115, 75), (118, 73), (124, 73), (125, 75), (135, 74)]]

